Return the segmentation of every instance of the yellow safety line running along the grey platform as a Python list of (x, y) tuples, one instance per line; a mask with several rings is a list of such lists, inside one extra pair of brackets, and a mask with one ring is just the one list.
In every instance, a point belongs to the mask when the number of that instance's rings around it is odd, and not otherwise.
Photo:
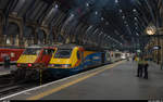
[(112, 68), (112, 67), (114, 67), (114, 66), (116, 66), (116, 65), (118, 65), (118, 64), (121, 64), (121, 63), (123, 63), (123, 62), (113, 64), (113, 65), (111, 65), (111, 66), (109, 66), (109, 67), (106, 67), (106, 68), (104, 68), (104, 69), (98, 71), (98, 72), (96, 72), (96, 73), (89, 74), (89, 75), (87, 75), (87, 76), (84, 76), (84, 77), (78, 78), (78, 79), (76, 79), (76, 80), (73, 80), (73, 81), (71, 81), (71, 82), (64, 84), (64, 85), (62, 85), (62, 86), (60, 86), (60, 87), (58, 87), (58, 88), (54, 88), (54, 89), (51, 89), (51, 90), (41, 92), (40, 94), (34, 95), (34, 97), (30, 97), (30, 98), (27, 98), (26, 100), (39, 100), (39, 99), (41, 99), (41, 98), (43, 98), (43, 97), (46, 97), (46, 95), (52, 94), (52, 93), (54, 93), (54, 92), (57, 92), (57, 91), (60, 91), (60, 90), (62, 90), (62, 89), (64, 89), (64, 88), (66, 88), (66, 87), (70, 87), (70, 86), (72, 86), (72, 85), (75, 85), (75, 84), (77, 84), (77, 82), (79, 82), (79, 81), (82, 81), (82, 80), (85, 80), (85, 79), (87, 79), (87, 78), (89, 78), (89, 77), (91, 77), (91, 76), (95, 76), (95, 75), (97, 75), (97, 74), (99, 74), (99, 73), (101, 73), (101, 72), (103, 72), (103, 71), (105, 71), (105, 69)]

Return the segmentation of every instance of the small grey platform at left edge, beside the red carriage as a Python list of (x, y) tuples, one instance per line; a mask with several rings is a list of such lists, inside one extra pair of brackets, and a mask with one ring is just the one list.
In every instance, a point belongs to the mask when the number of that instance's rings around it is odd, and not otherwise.
[(10, 74), (11, 71), (16, 69), (15, 65), (11, 65), (10, 68), (4, 68), (3, 65), (0, 65), (0, 76)]

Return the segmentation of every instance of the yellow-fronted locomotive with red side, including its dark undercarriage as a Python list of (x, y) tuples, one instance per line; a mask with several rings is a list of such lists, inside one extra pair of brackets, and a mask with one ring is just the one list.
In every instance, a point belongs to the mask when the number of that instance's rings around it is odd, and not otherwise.
[(23, 78), (38, 79), (39, 69), (46, 68), (55, 51), (55, 47), (27, 47), (17, 60), (17, 69), (13, 71), (15, 80)]

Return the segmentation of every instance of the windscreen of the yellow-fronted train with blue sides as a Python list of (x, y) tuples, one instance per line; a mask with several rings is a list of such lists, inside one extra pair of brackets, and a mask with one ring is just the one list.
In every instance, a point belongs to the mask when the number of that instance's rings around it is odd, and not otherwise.
[(59, 49), (54, 55), (54, 58), (59, 59), (68, 59), (71, 56), (71, 49)]

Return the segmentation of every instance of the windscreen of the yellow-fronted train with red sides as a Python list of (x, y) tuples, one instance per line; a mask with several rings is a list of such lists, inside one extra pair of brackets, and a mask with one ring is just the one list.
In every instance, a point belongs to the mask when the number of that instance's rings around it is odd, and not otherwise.
[(39, 52), (40, 52), (40, 49), (38, 49), (38, 48), (27, 48), (27, 49), (25, 49), (23, 54), (26, 54), (26, 55), (38, 55)]

